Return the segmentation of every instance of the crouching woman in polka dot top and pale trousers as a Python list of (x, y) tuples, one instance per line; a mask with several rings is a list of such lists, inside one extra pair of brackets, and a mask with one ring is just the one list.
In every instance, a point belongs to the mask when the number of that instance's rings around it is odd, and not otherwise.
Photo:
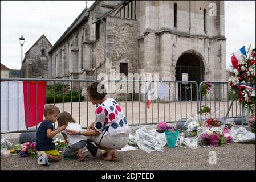
[(100, 145), (99, 148), (106, 151), (101, 154), (105, 157), (104, 160), (116, 159), (115, 150), (127, 145), (131, 132), (123, 110), (113, 98), (107, 97), (105, 86), (99, 82), (89, 86), (87, 94), (92, 104), (99, 104), (95, 111), (95, 122), (90, 123), (87, 130), (67, 132), (71, 135), (91, 136), (92, 140)]

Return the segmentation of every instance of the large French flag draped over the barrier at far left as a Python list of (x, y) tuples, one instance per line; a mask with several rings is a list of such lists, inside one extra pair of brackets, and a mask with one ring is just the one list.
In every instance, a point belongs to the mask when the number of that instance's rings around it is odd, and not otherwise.
[[(25, 130), (43, 120), (46, 82), (1, 82), (1, 133)], [(36, 94), (37, 91), (37, 94)]]

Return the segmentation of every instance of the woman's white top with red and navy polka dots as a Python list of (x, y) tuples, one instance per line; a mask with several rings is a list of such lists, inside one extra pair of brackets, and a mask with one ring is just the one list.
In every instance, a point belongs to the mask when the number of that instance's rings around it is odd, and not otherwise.
[(107, 97), (107, 100), (96, 108), (95, 114), (94, 129), (100, 133), (103, 133), (106, 127), (109, 127), (109, 132), (106, 132), (105, 135), (109, 133), (129, 135), (131, 132), (123, 110), (113, 98)]

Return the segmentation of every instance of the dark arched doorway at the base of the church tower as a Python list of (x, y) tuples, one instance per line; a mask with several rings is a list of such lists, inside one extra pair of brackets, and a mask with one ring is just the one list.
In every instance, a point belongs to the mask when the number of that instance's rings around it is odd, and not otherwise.
[[(198, 86), (204, 80), (204, 63), (200, 56), (193, 52), (183, 53), (176, 64), (175, 78), (177, 81), (196, 81)], [(191, 98), (192, 90), (192, 98)], [(196, 85), (192, 84), (178, 84), (178, 101), (196, 101)]]

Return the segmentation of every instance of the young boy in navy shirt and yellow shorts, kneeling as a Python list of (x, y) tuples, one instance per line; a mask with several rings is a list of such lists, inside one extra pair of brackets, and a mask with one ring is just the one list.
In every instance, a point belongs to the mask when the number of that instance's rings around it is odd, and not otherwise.
[(65, 130), (66, 126), (61, 126), (54, 131), (54, 126), (52, 125), (57, 120), (59, 113), (60, 111), (58, 107), (54, 105), (47, 105), (43, 110), (45, 120), (40, 124), (36, 132), (35, 148), (37, 151), (44, 151), (42, 158), (43, 166), (50, 166), (48, 159), (52, 159), (54, 161), (60, 160), (60, 154), (55, 149), (53, 137)]

